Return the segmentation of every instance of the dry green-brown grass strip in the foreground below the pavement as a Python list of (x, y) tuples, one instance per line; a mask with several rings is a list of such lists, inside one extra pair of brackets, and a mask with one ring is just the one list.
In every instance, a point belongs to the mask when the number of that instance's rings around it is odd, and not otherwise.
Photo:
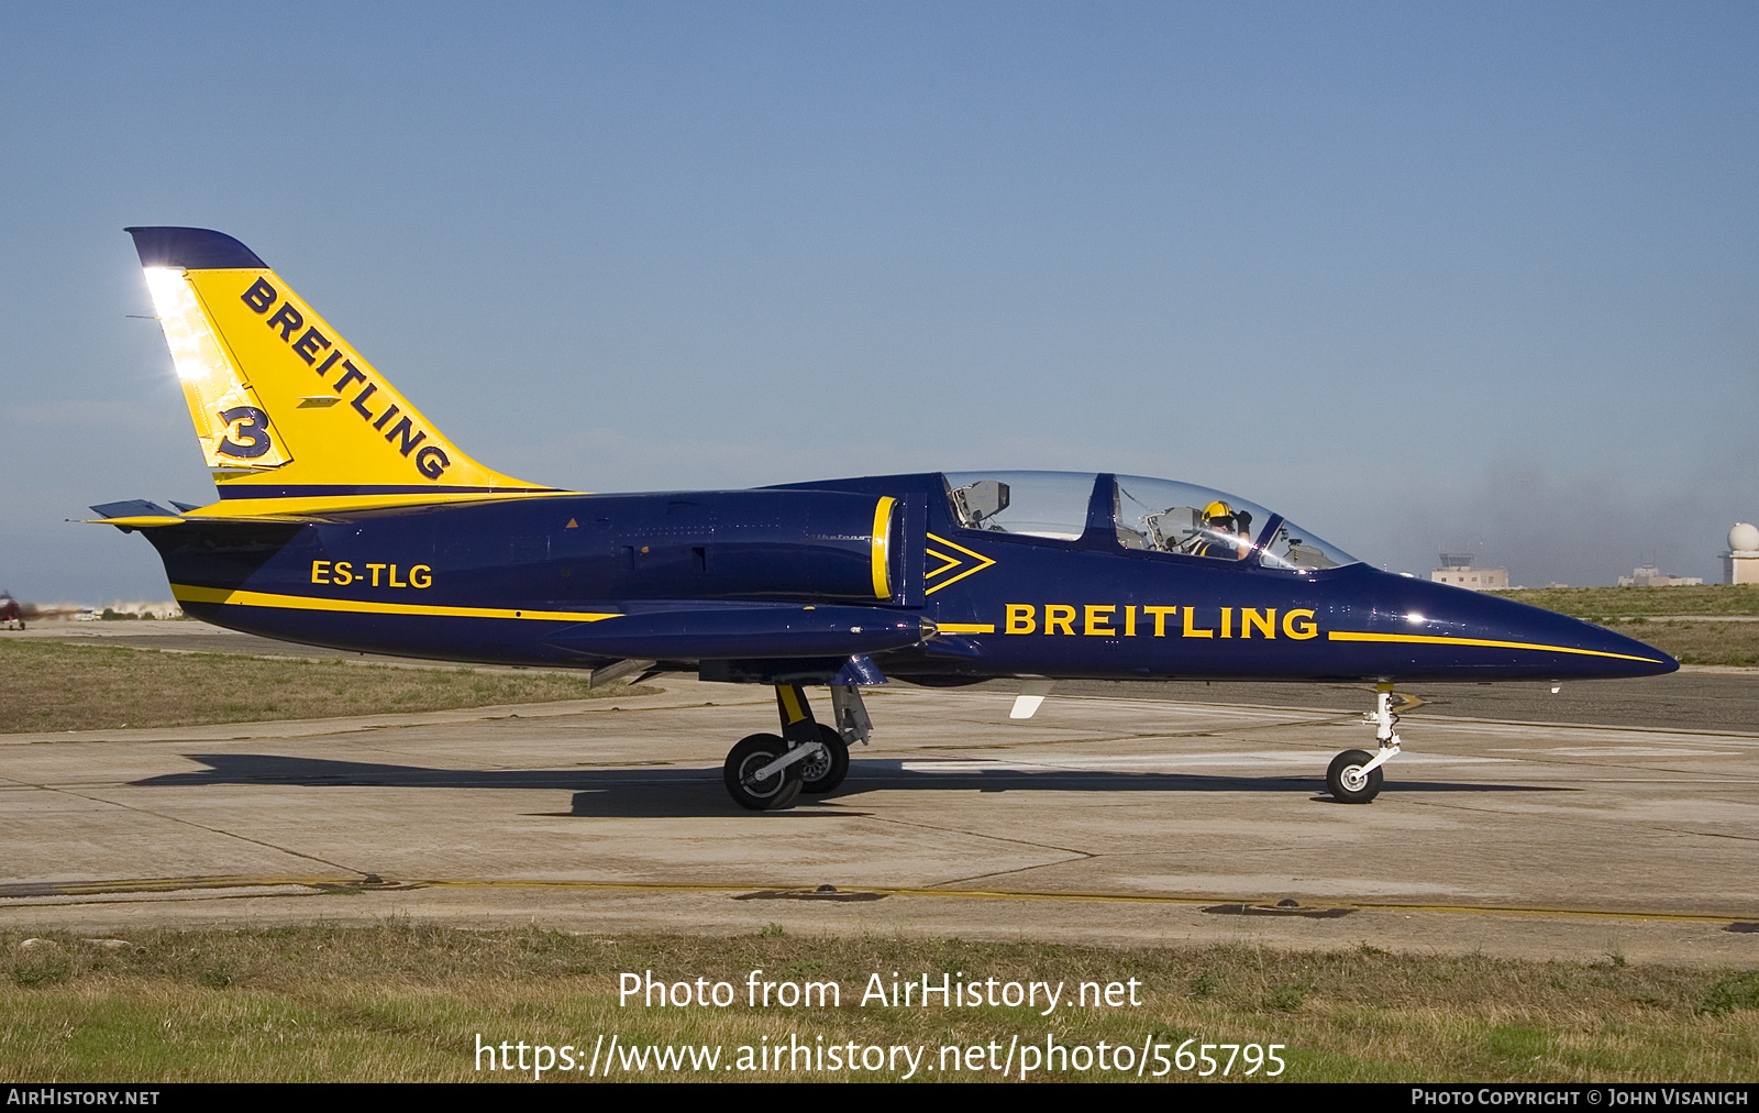
[[(1256, 946), (1108, 949), (959, 939), (756, 935), (589, 937), (538, 928), (473, 932), (389, 921), (369, 928), (139, 932), (111, 939), (0, 933), (0, 1076), (30, 1081), (463, 1081), (531, 1080), (478, 1069), (480, 1043), (572, 1046), (586, 1062), (617, 1037), (647, 1067), (619, 1080), (895, 1080), (904, 1060), (832, 1071), (763, 1048), (911, 1046), (918, 1080), (999, 1080), (1018, 1041), (1113, 1048), (1110, 1069), (1064, 1064), (1031, 1078), (1135, 1080), (1115, 1048), (1143, 1041), (1284, 1044), (1291, 1081), (1750, 1081), (1759, 1060), (1754, 974), (1734, 969), (1395, 955), (1374, 947), (1284, 953)], [(619, 1006), (619, 976), (726, 983), (734, 1004)], [(751, 972), (837, 983), (834, 1007), (751, 1007)], [(1064, 983), (1064, 1004), (974, 1007), (862, 1002), (892, 983)], [(1138, 1006), (1078, 1006), (1080, 983), (1138, 984)], [(983, 990), (989, 993), (989, 990)], [(723, 997), (725, 999), (725, 997)], [(480, 1043), (478, 1043), (480, 1039)], [(716, 1067), (660, 1069), (654, 1046), (718, 1048)], [(598, 1044), (603, 1046), (603, 1044)], [(950, 1048), (952, 1067), (941, 1048)], [(990, 1051), (990, 1048), (996, 1051)], [(973, 1067), (973, 1048), (982, 1048)], [(755, 1069), (739, 1069), (741, 1050)], [(1226, 1057), (1226, 1051), (1215, 1053)], [(1077, 1062), (1080, 1055), (1075, 1057)], [(558, 1058), (559, 1062), (559, 1058)], [(735, 1064), (728, 1071), (726, 1065)], [(1015, 1055), (1011, 1076), (1020, 1074)], [(1157, 1067), (1150, 1062), (1145, 1074)], [(1196, 1069), (1201, 1069), (1198, 1065)], [(1237, 1058), (1230, 1078), (1240, 1078)], [(584, 1080), (551, 1069), (545, 1080)], [(1171, 1080), (1193, 1072), (1170, 1071)], [(1217, 1069), (1217, 1078), (1221, 1072)]]

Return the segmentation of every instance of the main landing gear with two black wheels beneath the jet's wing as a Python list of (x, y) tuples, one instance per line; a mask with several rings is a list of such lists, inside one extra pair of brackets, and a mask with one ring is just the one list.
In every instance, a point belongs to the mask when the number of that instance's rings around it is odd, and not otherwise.
[(726, 791), (739, 807), (779, 812), (792, 808), (800, 792), (816, 796), (843, 784), (850, 771), (850, 745), (865, 745), (872, 722), (862, 690), (851, 683), (830, 685), (830, 708), (837, 719), (834, 727), (813, 719), (800, 685), (776, 685), (781, 734), (741, 740), (721, 766)]

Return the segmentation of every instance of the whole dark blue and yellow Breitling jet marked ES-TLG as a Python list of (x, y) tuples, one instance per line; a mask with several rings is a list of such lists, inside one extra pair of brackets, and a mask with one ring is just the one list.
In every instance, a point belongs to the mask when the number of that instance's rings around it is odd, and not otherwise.
[[(1400, 748), (1393, 685), (1671, 673), (1525, 604), (1376, 571), (1223, 491), (1112, 472), (862, 475), (589, 495), (454, 446), (237, 240), (134, 227), (220, 498), (95, 505), (197, 618), (287, 641), (776, 689), (726, 756), (753, 810), (830, 792), (862, 687), (1015, 678), (1370, 682), (1377, 747), (1326, 771), (1367, 803)], [(830, 722), (807, 685), (828, 685)]]

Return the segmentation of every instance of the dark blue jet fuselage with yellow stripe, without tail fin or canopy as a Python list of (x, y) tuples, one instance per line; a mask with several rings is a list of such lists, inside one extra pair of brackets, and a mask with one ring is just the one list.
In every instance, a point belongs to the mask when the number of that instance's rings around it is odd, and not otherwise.
[[(725, 680), (1574, 680), (1668, 655), (1365, 564), (1129, 548), (1112, 475), (1068, 535), (966, 528), (939, 474), (544, 495), (144, 532), (188, 613), (373, 653)], [(1275, 523), (1277, 520), (1272, 520)], [(1265, 523), (1258, 523), (1265, 525)]]

